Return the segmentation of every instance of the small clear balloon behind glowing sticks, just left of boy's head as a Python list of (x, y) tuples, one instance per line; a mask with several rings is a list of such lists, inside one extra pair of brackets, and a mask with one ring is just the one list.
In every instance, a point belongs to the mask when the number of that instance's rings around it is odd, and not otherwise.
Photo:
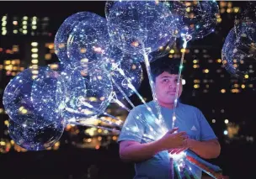
[[(138, 89), (141, 86), (141, 81), (143, 77), (141, 64), (134, 60), (132, 55), (124, 55), (123, 61), (120, 62), (120, 66), (111, 71), (111, 76), (127, 97), (130, 97), (134, 91), (129, 87), (132, 84), (133, 87)], [(124, 74), (122, 74), (124, 72)], [(129, 81), (129, 82), (128, 82)], [(124, 98), (120, 90), (113, 86), (113, 90), (116, 97), (121, 99)]]

